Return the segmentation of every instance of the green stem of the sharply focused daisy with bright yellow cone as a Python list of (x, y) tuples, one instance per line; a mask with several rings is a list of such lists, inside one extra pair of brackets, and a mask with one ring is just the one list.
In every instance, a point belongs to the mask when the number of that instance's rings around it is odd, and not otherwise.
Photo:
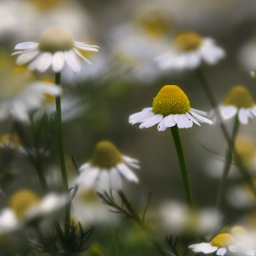
[(188, 173), (187, 173), (187, 165), (185, 162), (185, 157), (184, 157), (183, 148), (182, 148), (182, 144), (181, 144), (179, 133), (178, 133), (178, 128), (175, 125), (170, 129), (176, 145), (176, 154), (178, 157), (180, 170), (183, 178), (183, 183), (185, 187), (185, 192), (187, 196), (187, 204), (191, 210), (194, 210), (194, 203), (193, 203), (193, 198), (192, 198), (192, 193), (191, 193), (191, 188), (190, 188), (190, 183), (189, 183)]

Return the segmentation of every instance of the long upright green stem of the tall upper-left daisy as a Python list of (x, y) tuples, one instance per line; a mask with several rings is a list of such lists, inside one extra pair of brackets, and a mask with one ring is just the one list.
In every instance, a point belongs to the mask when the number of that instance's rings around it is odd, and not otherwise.
[[(60, 73), (55, 73), (55, 84), (56, 86), (60, 86)], [(60, 96), (56, 96), (56, 119), (57, 119), (57, 133), (58, 133), (58, 145), (59, 145), (59, 163), (60, 163), (60, 170), (62, 176), (62, 183), (63, 189), (66, 193), (69, 193), (69, 184), (68, 184), (68, 176), (66, 172), (66, 165), (65, 165), (65, 155), (63, 149), (63, 140), (62, 140), (62, 120), (61, 120), (61, 101)], [(69, 236), (69, 223), (70, 219), (70, 204), (68, 203), (65, 208), (65, 236)]]

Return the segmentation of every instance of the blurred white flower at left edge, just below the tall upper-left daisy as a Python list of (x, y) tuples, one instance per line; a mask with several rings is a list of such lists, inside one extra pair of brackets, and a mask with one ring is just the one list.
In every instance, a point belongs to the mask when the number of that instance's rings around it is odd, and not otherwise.
[(59, 96), (61, 89), (52, 84), (35, 80), (25, 68), (1, 69), (0, 67), (0, 120), (11, 116), (27, 121), (29, 112), (37, 110), (46, 97)]

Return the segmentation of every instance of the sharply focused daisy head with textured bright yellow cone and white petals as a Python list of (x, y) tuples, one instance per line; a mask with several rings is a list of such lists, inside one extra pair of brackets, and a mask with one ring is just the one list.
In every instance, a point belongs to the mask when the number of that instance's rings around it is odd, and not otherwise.
[(155, 96), (153, 107), (144, 108), (129, 117), (129, 123), (141, 123), (140, 128), (149, 128), (156, 123), (159, 132), (177, 125), (178, 128), (191, 128), (193, 123), (212, 124), (201, 112), (190, 108), (187, 95), (176, 85), (165, 85)]

